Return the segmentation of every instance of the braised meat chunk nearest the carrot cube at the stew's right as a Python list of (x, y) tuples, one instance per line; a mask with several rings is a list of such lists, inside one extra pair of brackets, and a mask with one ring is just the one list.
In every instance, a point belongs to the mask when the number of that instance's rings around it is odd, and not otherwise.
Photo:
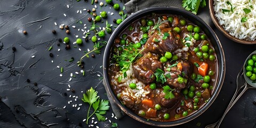
[[(179, 60), (178, 65), (181, 65), (182, 69), (178, 68), (178, 66), (172, 67), (171, 63), (166, 63), (166, 67), (164, 67), (164, 75), (167, 82), (165, 82), (165, 84), (177, 87), (178, 89), (183, 89), (186, 87), (189, 76), (193, 72), (193, 66), (189, 61), (183, 60)], [(184, 81), (183, 83), (179, 83), (179, 76), (181, 76), (182, 78), (186, 78), (187, 82)]]

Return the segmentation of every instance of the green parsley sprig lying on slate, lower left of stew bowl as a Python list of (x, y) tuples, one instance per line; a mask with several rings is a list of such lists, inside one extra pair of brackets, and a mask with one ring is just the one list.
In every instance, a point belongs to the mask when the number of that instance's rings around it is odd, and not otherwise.
[[(100, 97), (98, 96), (98, 92), (95, 91), (92, 87), (90, 90), (86, 91), (86, 94), (83, 94), (82, 100), (84, 102), (89, 103), (90, 107), (87, 112), (87, 121), (86, 124), (88, 124), (89, 118), (91, 118), (94, 114), (97, 116), (98, 121), (106, 121), (105, 117), (102, 116), (106, 114), (106, 111), (109, 109), (109, 101), (108, 100), (100, 100)], [(94, 111), (89, 116), (90, 109), (93, 107)]]

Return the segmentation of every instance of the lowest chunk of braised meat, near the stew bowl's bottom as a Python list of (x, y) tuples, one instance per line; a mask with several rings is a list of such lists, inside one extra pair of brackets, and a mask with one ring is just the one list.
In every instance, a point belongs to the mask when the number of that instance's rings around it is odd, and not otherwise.
[(180, 93), (179, 93), (179, 90), (174, 90), (172, 91), (172, 93), (174, 94), (175, 98), (165, 99), (164, 98), (165, 93), (163, 92), (163, 89), (162, 88), (156, 89), (154, 91), (155, 102), (167, 109), (174, 108), (175, 106), (177, 106), (177, 103), (180, 99)]

